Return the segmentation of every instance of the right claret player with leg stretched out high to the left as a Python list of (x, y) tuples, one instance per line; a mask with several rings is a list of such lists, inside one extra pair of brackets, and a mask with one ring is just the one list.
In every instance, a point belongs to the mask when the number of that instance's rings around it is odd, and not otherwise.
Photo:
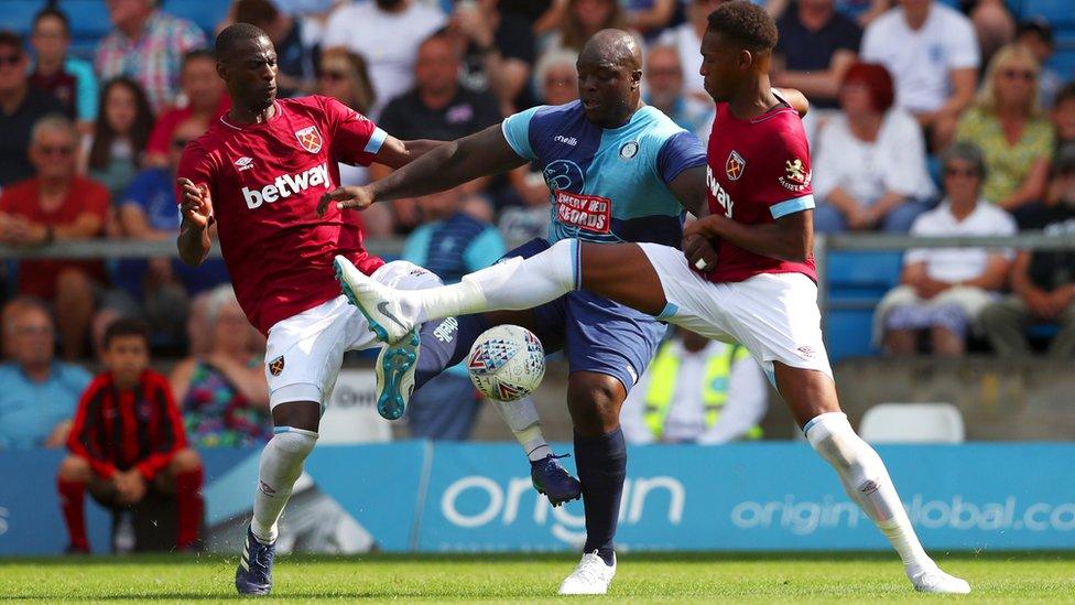
[[(775, 23), (749, 2), (729, 2), (709, 17), (702, 75), (717, 104), (707, 154), (710, 215), (687, 226), (684, 250), (562, 239), (458, 284), (413, 292), (388, 289), (338, 259), (344, 282), (390, 342), (410, 325), (529, 309), (579, 288), (704, 336), (739, 342), (847, 495), (899, 552), (912, 585), (967, 593), (965, 581), (941, 571), (922, 549), (884, 464), (840, 411), (814, 281), (810, 152), (801, 120), (770, 88), (775, 44)], [(715, 258), (706, 241), (716, 244)]]

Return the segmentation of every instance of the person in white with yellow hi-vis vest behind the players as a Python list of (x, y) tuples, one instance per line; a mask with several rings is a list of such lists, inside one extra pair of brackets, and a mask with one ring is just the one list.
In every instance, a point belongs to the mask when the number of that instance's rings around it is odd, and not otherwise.
[(761, 437), (769, 383), (741, 345), (678, 328), (623, 401), (631, 444), (713, 445)]

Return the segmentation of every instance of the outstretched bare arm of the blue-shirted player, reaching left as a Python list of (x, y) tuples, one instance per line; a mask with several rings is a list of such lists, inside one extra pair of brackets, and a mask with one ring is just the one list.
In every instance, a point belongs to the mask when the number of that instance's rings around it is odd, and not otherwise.
[(374, 202), (419, 197), (450, 190), (479, 176), (499, 174), (526, 163), (504, 139), (500, 125), (437, 145), (389, 176), (361, 187), (337, 187), (322, 197), (317, 214), (328, 204), (362, 209)]

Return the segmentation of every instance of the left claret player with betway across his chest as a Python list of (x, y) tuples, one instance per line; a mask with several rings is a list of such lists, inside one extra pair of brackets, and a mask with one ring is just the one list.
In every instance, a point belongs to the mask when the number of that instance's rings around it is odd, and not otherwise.
[(278, 100), (276, 53), (249, 23), (220, 32), (216, 54), (232, 108), (183, 153), (177, 246), (185, 262), (199, 264), (215, 223), (239, 304), (269, 337), (275, 434), (261, 455), (253, 519), (236, 571), (240, 593), (268, 594), (276, 520), (317, 441), (344, 352), (379, 346), (340, 295), (333, 257), (395, 287), (439, 283), (414, 264), (386, 264), (369, 255), (356, 215), (333, 209), (318, 218), (315, 208), (339, 184), (337, 162), (398, 168), (436, 143), (401, 142), (327, 97)]

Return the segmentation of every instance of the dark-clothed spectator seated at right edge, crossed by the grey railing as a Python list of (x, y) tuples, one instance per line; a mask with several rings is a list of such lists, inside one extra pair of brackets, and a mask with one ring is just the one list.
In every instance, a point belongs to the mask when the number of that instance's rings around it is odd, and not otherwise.
[[(1061, 151), (1054, 176), (1042, 204), (1029, 213), (1023, 228), (1047, 236), (1075, 233), (1075, 148)], [(1072, 250), (1023, 250), (1011, 268), (1012, 294), (981, 312), (981, 326), (993, 350), (1003, 357), (1030, 354), (1027, 327), (1055, 323), (1060, 332), (1049, 345), (1049, 355), (1075, 355), (1075, 253)]]

